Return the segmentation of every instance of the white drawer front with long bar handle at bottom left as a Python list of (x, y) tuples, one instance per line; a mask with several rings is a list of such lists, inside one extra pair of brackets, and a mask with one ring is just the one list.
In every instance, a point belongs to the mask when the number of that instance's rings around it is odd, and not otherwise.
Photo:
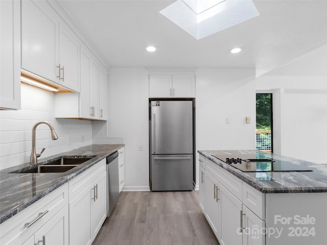
[[(68, 184), (66, 183), (2, 223), (0, 244), (15, 245), (25, 242), (67, 204)], [(42, 214), (44, 215), (38, 218)], [(30, 227), (26, 226), (27, 223), (30, 223)]]

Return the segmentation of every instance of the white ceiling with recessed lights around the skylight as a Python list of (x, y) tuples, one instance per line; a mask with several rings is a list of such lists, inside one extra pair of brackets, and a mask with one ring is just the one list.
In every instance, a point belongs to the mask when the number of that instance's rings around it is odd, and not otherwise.
[[(253, 1), (260, 16), (200, 40), (159, 13), (174, 1), (59, 2), (112, 67), (270, 71), (327, 43), (327, 0)], [(235, 46), (243, 52), (230, 54)]]

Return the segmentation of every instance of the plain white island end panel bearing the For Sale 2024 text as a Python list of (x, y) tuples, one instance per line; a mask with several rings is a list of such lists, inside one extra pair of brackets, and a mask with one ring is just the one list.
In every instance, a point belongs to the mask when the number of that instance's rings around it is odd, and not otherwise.
[(327, 192), (266, 194), (266, 244), (327, 244), (326, 207)]

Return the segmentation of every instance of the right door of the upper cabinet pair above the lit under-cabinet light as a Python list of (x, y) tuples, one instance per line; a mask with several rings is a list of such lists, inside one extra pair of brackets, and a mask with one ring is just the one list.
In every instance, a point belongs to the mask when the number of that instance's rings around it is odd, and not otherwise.
[(76, 34), (63, 22), (59, 24), (59, 83), (77, 92), (79, 89), (80, 44)]

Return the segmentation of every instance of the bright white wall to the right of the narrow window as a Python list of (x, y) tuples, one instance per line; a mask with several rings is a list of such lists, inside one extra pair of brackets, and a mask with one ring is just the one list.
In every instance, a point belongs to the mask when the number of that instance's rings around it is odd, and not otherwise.
[(255, 80), (273, 93), (274, 152), (327, 163), (327, 44)]

